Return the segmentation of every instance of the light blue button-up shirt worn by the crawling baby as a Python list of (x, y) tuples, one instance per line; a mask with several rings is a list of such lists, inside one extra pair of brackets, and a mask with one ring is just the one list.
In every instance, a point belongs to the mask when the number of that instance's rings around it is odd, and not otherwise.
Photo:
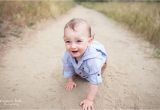
[(107, 54), (102, 44), (97, 41), (85, 50), (82, 58), (76, 63), (74, 57), (69, 52), (65, 52), (63, 57), (63, 75), (69, 78), (78, 74), (91, 84), (102, 83), (101, 68), (106, 62)]

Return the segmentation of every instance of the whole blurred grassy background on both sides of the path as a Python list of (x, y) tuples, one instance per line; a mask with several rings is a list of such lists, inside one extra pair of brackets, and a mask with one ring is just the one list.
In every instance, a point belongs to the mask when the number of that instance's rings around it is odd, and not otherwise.
[(104, 13), (155, 46), (160, 56), (159, 0), (44, 0), (0, 1), (0, 43), (7, 37), (22, 37), (25, 27), (57, 19), (76, 5)]

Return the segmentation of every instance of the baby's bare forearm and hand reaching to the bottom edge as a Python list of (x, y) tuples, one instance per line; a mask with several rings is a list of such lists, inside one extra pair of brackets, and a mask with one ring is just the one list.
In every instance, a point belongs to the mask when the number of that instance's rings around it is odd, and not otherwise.
[(97, 94), (98, 85), (89, 84), (89, 91), (86, 99), (84, 99), (80, 105), (82, 105), (83, 110), (93, 109), (93, 100)]

